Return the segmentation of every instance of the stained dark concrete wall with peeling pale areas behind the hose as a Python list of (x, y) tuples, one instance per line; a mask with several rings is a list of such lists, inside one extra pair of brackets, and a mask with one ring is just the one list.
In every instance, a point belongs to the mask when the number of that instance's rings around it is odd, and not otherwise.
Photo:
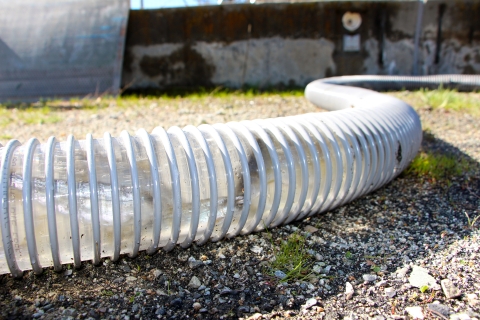
[[(123, 85), (303, 86), (350, 74), (412, 74), (416, 1), (317, 2), (131, 11)], [(346, 12), (361, 25), (348, 31)], [(420, 74), (480, 73), (480, 1), (430, 0)], [(358, 48), (347, 40), (358, 40)], [(346, 47), (347, 46), (347, 47)], [(358, 50), (357, 50), (358, 49)]]

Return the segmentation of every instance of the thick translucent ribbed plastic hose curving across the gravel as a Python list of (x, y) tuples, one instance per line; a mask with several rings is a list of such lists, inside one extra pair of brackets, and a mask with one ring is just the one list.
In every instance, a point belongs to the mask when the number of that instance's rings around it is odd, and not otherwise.
[(330, 113), (11, 140), (0, 151), (0, 274), (218, 241), (381, 187), (416, 155), (420, 120), (398, 99), (329, 83), (348, 80), (307, 86)]

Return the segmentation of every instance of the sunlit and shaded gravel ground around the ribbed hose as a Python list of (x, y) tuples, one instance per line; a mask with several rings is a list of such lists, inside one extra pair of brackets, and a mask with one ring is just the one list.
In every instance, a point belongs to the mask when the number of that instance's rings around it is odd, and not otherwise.
[[(302, 97), (281, 96), (108, 103), (64, 105), (57, 123), (4, 132), (46, 141), (52, 133), (101, 137), (106, 129), (118, 135), (317, 111)], [(471, 226), (466, 216), (480, 215), (479, 119), (416, 107), (427, 129), (423, 148), (467, 159), (471, 172), (448, 183), (404, 174), (326, 214), (201, 247), (26, 272), (21, 280), (2, 275), (0, 319), (480, 319), (480, 222)], [(311, 274), (282, 283), (270, 264), (294, 233), (306, 239)]]

